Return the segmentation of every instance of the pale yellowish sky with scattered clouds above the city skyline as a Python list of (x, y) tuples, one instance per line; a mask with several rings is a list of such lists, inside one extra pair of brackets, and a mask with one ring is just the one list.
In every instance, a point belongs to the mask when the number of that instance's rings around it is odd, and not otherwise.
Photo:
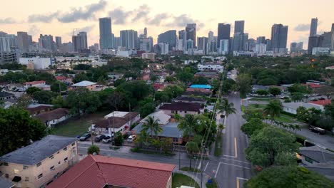
[[(333, 0), (11, 0), (1, 2), (0, 31), (27, 31), (38, 41), (39, 34), (71, 40), (76, 29), (88, 32), (88, 46), (98, 43), (98, 18), (111, 17), (112, 32), (134, 29), (156, 38), (171, 29), (197, 23), (197, 36), (217, 34), (218, 23), (245, 20), (250, 38), (270, 38), (273, 23), (288, 25), (290, 42), (303, 41), (307, 48), (310, 19), (318, 17), (318, 34), (334, 23)], [(232, 31), (233, 32), (233, 31)], [(233, 35), (231, 32), (231, 36)]]

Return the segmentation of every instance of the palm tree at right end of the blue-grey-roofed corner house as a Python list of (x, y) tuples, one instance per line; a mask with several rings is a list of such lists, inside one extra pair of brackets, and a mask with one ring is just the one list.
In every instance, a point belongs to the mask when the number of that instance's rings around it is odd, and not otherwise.
[(178, 124), (178, 128), (183, 130), (183, 136), (194, 136), (196, 135), (196, 130), (198, 128), (198, 116), (193, 114), (186, 114)]

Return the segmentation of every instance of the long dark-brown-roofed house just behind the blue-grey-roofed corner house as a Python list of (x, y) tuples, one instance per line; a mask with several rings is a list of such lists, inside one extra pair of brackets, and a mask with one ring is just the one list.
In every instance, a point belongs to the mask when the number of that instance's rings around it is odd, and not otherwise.
[(167, 115), (178, 114), (185, 117), (186, 114), (203, 113), (204, 108), (198, 103), (162, 103), (160, 110)]

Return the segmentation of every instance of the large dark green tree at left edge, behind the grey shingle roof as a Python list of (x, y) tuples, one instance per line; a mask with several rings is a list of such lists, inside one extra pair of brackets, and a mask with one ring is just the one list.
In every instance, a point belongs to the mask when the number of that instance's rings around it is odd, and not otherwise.
[(28, 145), (29, 140), (40, 140), (46, 135), (46, 126), (30, 117), (22, 108), (0, 108), (0, 155)]

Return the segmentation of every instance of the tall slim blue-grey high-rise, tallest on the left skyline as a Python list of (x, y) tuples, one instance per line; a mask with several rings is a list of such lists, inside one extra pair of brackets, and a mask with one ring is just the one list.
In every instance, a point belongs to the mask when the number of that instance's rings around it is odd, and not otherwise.
[(100, 26), (100, 48), (111, 49), (113, 48), (113, 39), (111, 37), (111, 18), (98, 19)]

